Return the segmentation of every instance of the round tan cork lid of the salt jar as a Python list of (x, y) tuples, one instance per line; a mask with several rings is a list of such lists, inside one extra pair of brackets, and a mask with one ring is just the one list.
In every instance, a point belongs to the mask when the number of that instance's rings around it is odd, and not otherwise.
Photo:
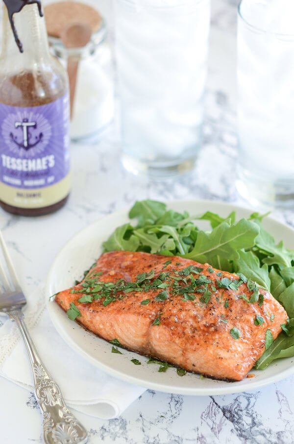
[(97, 32), (102, 24), (99, 12), (92, 6), (77, 1), (57, 1), (44, 7), (47, 32), (51, 37), (60, 37), (69, 25), (84, 23)]

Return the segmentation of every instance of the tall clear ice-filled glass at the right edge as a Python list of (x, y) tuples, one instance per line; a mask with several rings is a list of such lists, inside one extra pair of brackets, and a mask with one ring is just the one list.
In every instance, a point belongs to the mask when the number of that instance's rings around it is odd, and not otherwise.
[(294, 208), (294, 2), (241, 1), (237, 52), (237, 189)]

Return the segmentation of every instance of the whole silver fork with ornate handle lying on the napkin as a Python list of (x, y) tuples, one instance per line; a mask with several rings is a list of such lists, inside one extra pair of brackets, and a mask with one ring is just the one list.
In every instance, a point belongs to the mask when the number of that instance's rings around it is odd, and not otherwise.
[(65, 404), (60, 389), (42, 363), (25, 325), (22, 308), (25, 296), (9, 257), (2, 233), (0, 248), (4, 261), (0, 261), (3, 294), (0, 294), (0, 312), (14, 320), (22, 334), (34, 378), (35, 396), (43, 413), (43, 439), (46, 444), (87, 443), (88, 436), (82, 424)]

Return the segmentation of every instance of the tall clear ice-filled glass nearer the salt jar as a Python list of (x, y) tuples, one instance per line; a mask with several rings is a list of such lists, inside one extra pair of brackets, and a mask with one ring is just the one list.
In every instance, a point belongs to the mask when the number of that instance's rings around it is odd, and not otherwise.
[(115, 0), (123, 164), (164, 177), (202, 145), (210, 0)]

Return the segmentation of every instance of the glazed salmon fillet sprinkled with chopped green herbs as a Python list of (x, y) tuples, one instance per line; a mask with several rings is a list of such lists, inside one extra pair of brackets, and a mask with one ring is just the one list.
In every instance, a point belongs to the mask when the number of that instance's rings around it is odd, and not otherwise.
[[(92, 300), (92, 302), (81, 302)], [(240, 381), (287, 313), (244, 276), (177, 256), (102, 254), (76, 286), (55, 295), (106, 341), (208, 377)]]

